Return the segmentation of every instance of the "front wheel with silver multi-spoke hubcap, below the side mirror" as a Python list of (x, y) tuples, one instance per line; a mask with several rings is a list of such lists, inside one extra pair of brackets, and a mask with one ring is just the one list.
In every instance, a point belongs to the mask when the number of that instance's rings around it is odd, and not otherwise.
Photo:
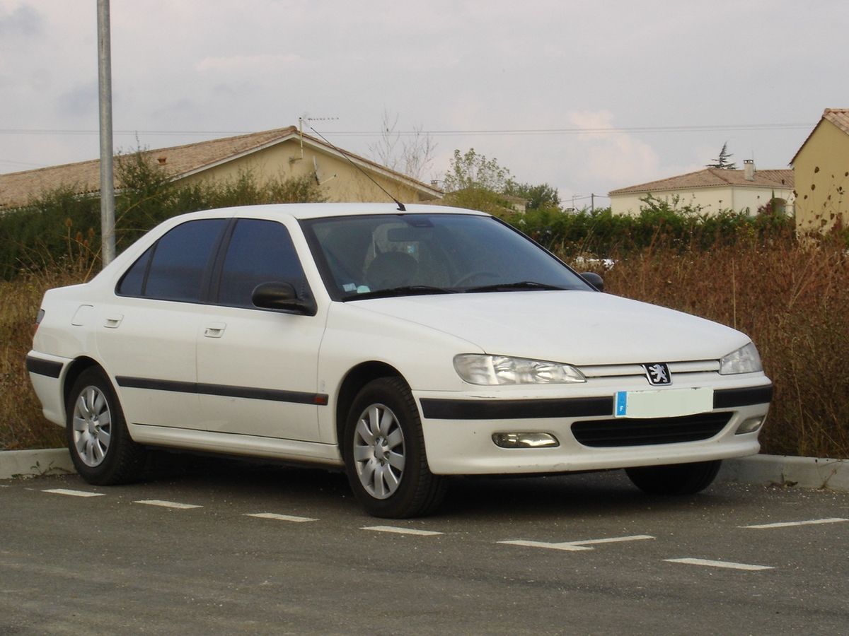
[(430, 472), (419, 410), (400, 377), (368, 382), (357, 393), (342, 455), (351, 490), (372, 516), (424, 516), (445, 496), (446, 478)]

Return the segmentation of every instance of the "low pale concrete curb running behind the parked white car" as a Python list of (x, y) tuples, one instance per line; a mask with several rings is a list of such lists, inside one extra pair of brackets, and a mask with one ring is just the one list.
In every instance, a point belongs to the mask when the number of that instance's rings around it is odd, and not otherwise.
[[(68, 449), (0, 452), (0, 479), (74, 472)], [(719, 482), (817, 488), (849, 493), (849, 460), (790, 455), (753, 455), (724, 460)]]

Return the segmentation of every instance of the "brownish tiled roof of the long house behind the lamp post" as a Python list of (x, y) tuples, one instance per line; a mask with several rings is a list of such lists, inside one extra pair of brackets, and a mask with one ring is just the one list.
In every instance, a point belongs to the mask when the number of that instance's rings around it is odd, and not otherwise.
[[(298, 135), (298, 129), (295, 126), (289, 126), (288, 128), (254, 132), (238, 137), (223, 137), (206, 142), (188, 143), (183, 146), (146, 150), (143, 151), (142, 155), (150, 163), (164, 165), (168, 174), (173, 178), (179, 178), (204, 170), (211, 165), (236, 159), (267, 146), (284, 142), (292, 137), (298, 137)], [(314, 148), (336, 153), (329, 144), (315, 137), (304, 135), (304, 141), (309, 142)], [(409, 176), (402, 175), (400, 172), (376, 164), (374, 161), (347, 151), (345, 154), (365, 165), (365, 167), (378, 170), (390, 178), (406, 181), (417, 189), (424, 189), (429, 192), (435, 190)], [(118, 160), (119, 158), (116, 157), (115, 159)], [(79, 194), (98, 192), (100, 190), (99, 159), (0, 175), (0, 209), (28, 204), (32, 198), (41, 195), (42, 192), (49, 192), (59, 187), (70, 187)], [(121, 188), (117, 170), (115, 171), (115, 187)]]

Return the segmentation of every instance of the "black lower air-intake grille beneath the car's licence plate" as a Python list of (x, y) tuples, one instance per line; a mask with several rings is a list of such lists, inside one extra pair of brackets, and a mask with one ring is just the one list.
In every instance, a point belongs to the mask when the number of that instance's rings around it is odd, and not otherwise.
[(644, 446), (675, 444), (712, 438), (728, 424), (732, 413), (657, 417), (647, 420), (617, 417), (613, 420), (576, 421), (572, 434), (584, 446)]

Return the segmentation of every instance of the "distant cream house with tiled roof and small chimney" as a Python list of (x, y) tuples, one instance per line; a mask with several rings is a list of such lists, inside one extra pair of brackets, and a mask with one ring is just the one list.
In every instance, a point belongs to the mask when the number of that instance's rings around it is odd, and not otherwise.
[(706, 168), (609, 194), (615, 215), (638, 215), (640, 199), (649, 195), (670, 204), (677, 201), (678, 208), (697, 207), (709, 215), (725, 209), (754, 215), (771, 201), (773, 209), (792, 215), (793, 170), (755, 170), (755, 162), (746, 159), (743, 170)]

